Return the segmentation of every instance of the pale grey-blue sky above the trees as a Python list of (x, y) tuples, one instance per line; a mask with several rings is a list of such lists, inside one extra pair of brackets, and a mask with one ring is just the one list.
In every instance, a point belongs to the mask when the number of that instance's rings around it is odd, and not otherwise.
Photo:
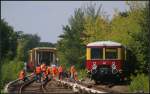
[[(1, 18), (5, 19), (15, 31), (38, 34), (42, 42), (56, 43), (63, 34), (62, 26), (76, 8), (83, 7), (90, 1), (1, 1)], [(114, 9), (126, 11), (125, 1), (92, 1), (109, 15)]]

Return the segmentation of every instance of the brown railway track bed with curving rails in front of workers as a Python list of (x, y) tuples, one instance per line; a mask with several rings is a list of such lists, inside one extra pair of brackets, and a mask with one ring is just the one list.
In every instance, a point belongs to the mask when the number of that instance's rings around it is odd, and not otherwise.
[[(48, 94), (97, 94), (107, 93), (107, 90), (96, 86), (90, 88), (88, 85), (74, 83), (65, 80), (51, 80), (42, 85), (39, 82), (30, 79), (27, 82), (20, 83), (19, 80), (10, 82), (6, 86), (6, 93), (48, 93)], [(114, 92), (111, 92), (114, 93)], [(116, 93), (116, 92), (115, 92)]]

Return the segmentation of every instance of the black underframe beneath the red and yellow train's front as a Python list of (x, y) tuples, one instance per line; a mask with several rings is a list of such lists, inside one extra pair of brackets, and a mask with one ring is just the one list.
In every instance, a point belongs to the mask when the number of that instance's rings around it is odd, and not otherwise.
[(96, 84), (109, 82), (109, 83), (120, 83), (124, 82), (125, 76), (122, 71), (112, 68), (97, 67), (89, 72), (89, 76)]

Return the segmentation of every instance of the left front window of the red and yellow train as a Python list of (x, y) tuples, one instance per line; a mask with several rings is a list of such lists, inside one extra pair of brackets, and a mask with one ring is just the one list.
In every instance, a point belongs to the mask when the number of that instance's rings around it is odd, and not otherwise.
[(91, 48), (91, 59), (102, 59), (103, 49), (102, 48)]

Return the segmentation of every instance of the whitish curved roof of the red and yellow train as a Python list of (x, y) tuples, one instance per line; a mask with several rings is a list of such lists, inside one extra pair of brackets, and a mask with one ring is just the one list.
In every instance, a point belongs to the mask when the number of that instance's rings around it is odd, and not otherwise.
[(113, 42), (113, 41), (96, 41), (87, 44), (87, 47), (90, 46), (122, 46), (121, 43)]

